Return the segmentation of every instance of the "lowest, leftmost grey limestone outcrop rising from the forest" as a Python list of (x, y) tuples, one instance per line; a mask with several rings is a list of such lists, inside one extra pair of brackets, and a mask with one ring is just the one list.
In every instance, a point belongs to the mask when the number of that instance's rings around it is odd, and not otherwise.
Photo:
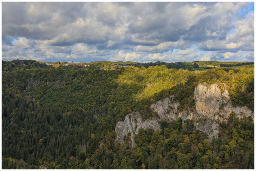
[(132, 112), (125, 116), (124, 121), (119, 121), (116, 124), (116, 140), (119, 143), (124, 141), (124, 137), (131, 134), (131, 146), (134, 147), (135, 144), (135, 135), (139, 133), (140, 128), (152, 127), (154, 130), (161, 130), (160, 124), (158, 124), (159, 119), (151, 118), (145, 121), (142, 121), (141, 115), (139, 112)]

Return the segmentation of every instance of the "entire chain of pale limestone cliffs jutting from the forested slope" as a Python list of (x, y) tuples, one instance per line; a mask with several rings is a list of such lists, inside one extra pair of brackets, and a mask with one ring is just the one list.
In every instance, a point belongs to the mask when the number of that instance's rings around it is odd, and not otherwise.
[(252, 116), (254, 119), (254, 113), (246, 106), (233, 107), (225, 84), (223, 84), (223, 89), (221, 91), (216, 83), (198, 84), (194, 91), (196, 111), (186, 108), (182, 112), (178, 112), (177, 108), (180, 103), (174, 100), (174, 96), (170, 96), (151, 104), (151, 109), (158, 113), (159, 118), (142, 121), (138, 112), (130, 113), (125, 117), (125, 121), (119, 121), (116, 124), (116, 140), (122, 143), (125, 135), (131, 133), (132, 147), (134, 147), (134, 136), (140, 127), (146, 129), (152, 126), (154, 130), (161, 130), (158, 121), (171, 122), (179, 117), (183, 121), (193, 119), (195, 128), (212, 139), (213, 136), (219, 134), (219, 121), (227, 121), (232, 112), (235, 112), (238, 118), (245, 115)]

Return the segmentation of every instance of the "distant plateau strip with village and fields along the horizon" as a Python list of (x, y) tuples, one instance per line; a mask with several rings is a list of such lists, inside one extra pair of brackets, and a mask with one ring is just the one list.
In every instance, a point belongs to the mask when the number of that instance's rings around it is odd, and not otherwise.
[(214, 69), (219, 67), (232, 67), (232, 66), (241, 66), (241, 65), (253, 65), (254, 62), (219, 62), (219, 61), (194, 61), (194, 62), (111, 62), (111, 61), (96, 61), (96, 62), (40, 62), (35, 60), (12, 60), (12, 61), (2, 61), (2, 71), (12, 70), (12, 68), (49, 68), (49, 67), (93, 67), (99, 69), (116, 69), (128, 66), (134, 67), (145, 67), (149, 66), (162, 66), (165, 65), (168, 69), (188, 69), (189, 71), (202, 71), (205, 69)]

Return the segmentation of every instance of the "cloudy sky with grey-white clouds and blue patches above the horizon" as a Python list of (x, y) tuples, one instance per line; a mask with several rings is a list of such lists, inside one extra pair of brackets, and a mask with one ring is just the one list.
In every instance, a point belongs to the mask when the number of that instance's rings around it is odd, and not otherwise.
[(254, 61), (254, 2), (3, 2), (2, 59)]

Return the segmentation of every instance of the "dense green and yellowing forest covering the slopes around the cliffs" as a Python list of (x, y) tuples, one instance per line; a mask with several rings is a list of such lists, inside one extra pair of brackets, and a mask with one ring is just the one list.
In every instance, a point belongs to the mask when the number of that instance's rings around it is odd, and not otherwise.
[(101, 70), (104, 62), (54, 68), (2, 61), (2, 168), (254, 168), (250, 117), (231, 115), (212, 142), (182, 119), (162, 121), (162, 131), (140, 129), (134, 148), (129, 136), (115, 141), (117, 121), (132, 111), (150, 118), (150, 104), (171, 94), (180, 111), (193, 108), (198, 83), (226, 83), (233, 106), (254, 110), (253, 64), (197, 73), (188, 66), (200, 62), (155, 63)]

